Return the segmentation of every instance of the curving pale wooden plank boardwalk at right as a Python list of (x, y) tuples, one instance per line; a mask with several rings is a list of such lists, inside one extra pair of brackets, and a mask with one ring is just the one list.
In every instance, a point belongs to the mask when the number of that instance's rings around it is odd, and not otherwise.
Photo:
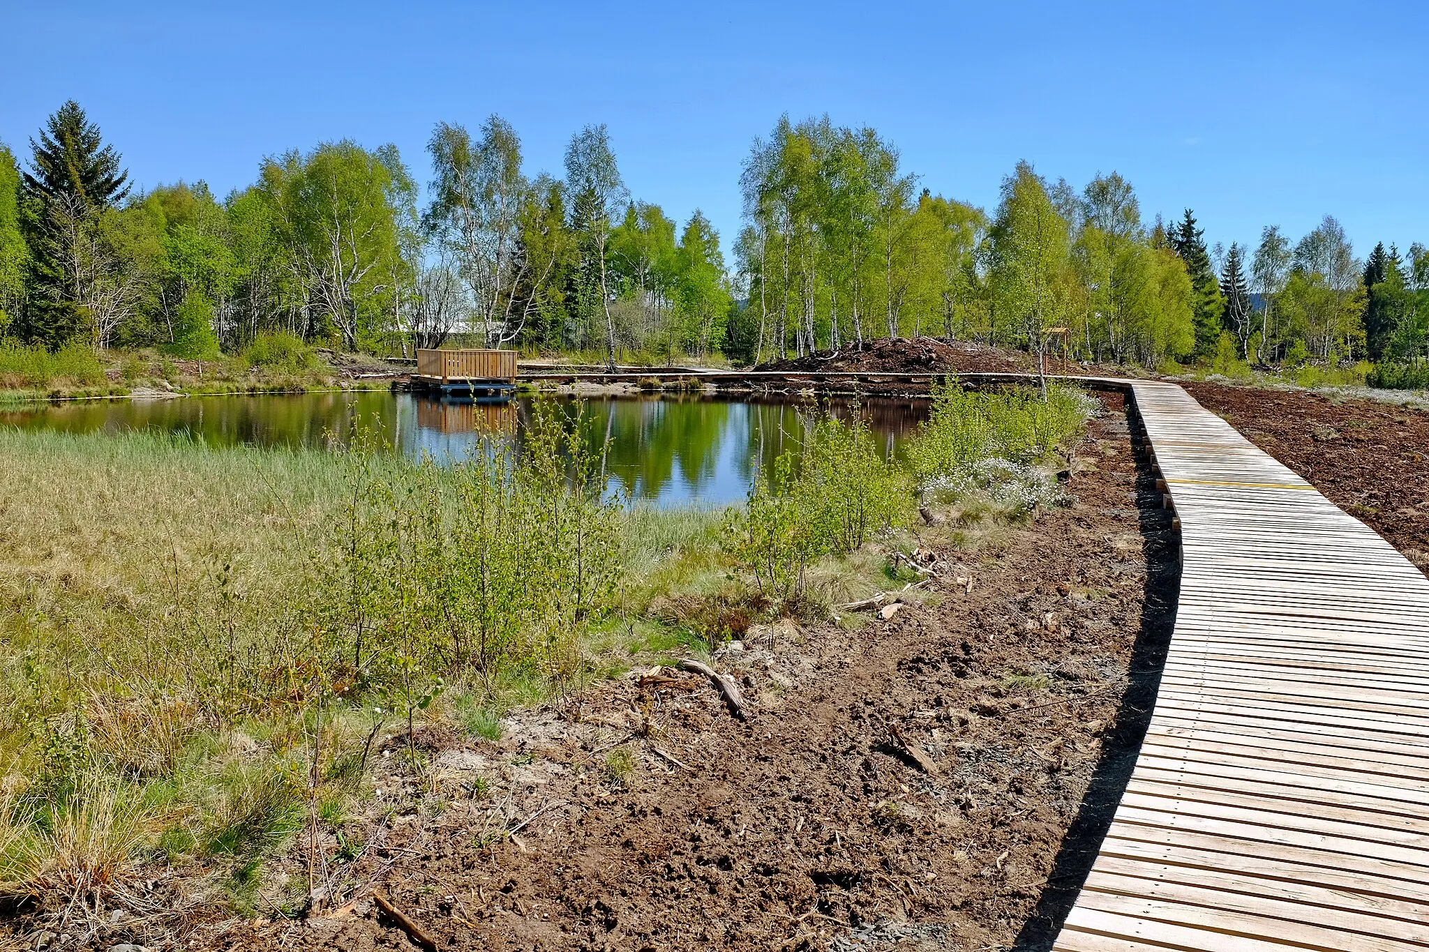
[(1173, 384), (1176, 628), (1055, 949), (1429, 949), (1429, 579)]

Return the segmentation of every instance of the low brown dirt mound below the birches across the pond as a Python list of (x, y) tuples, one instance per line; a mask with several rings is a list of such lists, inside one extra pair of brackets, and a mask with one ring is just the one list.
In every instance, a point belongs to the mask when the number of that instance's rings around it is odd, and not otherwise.
[(882, 373), (923, 374), (947, 371), (966, 374), (1022, 374), (1035, 367), (1030, 354), (997, 350), (970, 341), (946, 343), (932, 337), (879, 338), (862, 347), (819, 351), (807, 357), (770, 361), (755, 370), (789, 373)]

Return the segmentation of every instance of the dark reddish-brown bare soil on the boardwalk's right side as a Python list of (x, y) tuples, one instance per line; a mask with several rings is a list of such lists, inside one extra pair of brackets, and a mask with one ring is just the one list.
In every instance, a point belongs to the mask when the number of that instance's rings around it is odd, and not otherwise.
[(1305, 391), (1182, 387), (1429, 574), (1429, 412)]

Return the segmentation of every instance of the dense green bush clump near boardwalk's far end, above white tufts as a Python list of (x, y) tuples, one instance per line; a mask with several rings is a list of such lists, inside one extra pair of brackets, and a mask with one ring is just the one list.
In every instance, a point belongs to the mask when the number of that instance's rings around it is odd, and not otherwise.
[(1003, 393), (936, 388), (933, 411), (909, 448), (909, 465), (920, 487), (965, 474), (983, 460), (1035, 464), (1065, 448), (1087, 417), (1075, 390), (1052, 387), (1043, 398), (1033, 390)]

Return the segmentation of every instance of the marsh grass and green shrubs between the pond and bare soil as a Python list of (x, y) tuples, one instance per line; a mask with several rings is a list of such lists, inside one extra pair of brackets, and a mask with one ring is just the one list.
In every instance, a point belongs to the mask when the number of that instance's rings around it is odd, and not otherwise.
[(296, 844), (299, 912), (362, 848), (344, 824), (373, 758), (422, 778), (430, 725), (499, 736), (513, 707), (579, 704), (633, 664), (902, 582), (890, 555), (920, 501), (975, 520), (1055, 504), (1087, 412), (1069, 391), (947, 388), (907, 464), (857, 414), (826, 415), (723, 511), (623, 504), (579, 418), (543, 404), (520, 454), (453, 465), (372, 437), (0, 431), (3, 891), (74, 921), (181, 912), (177, 891), (133, 889), (169, 869), (242, 911)]

